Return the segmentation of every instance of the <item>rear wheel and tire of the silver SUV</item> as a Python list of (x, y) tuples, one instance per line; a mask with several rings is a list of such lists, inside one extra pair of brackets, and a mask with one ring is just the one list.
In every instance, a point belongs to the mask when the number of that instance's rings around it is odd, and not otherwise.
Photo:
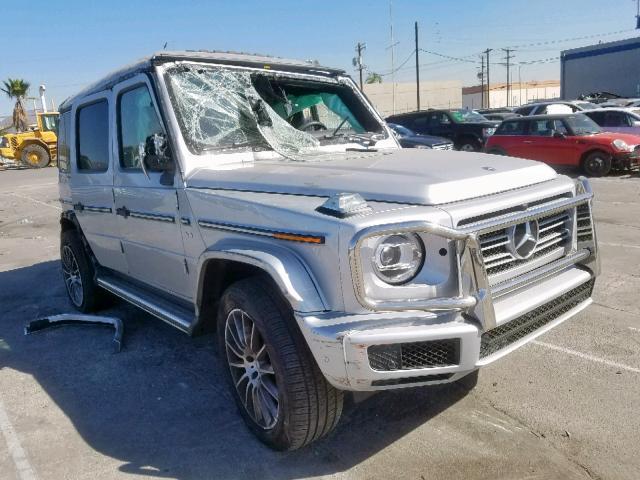
[(95, 283), (93, 263), (76, 230), (65, 230), (60, 235), (60, 263), (73, 306), (83, 313), (98, 310), (104, 291)]

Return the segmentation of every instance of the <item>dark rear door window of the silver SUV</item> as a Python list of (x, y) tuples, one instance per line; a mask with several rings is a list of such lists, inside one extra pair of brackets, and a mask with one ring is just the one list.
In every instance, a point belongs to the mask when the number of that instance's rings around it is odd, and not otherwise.
[(78, 109), (76, 141), (78, 171), (106, 172), (109, 168), (109, 109), (106, 100)]

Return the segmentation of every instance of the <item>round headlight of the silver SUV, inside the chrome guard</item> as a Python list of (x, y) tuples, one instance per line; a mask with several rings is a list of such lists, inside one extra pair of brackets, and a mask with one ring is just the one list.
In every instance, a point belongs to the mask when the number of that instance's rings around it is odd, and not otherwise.
[(373, 271), (378, 278), (399, 285), (414, 278), (424, 261), (424, 247), (414, 233), (381, 237), (373, 250)]

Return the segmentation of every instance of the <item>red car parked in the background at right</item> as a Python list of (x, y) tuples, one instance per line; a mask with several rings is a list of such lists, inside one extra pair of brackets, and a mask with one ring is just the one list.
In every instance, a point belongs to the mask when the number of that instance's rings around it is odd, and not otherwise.
[(640, 136), (603, 131), (580, 113), (534, 115), (503, 121), (485, 151), (573, 165), (599, 177), (611, 168), (632, 168), (640, 157)]

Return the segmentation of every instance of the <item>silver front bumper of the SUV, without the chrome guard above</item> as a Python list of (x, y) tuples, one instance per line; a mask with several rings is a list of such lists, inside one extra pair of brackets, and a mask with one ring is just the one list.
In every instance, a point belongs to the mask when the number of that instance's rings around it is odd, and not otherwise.
[[(362, 391), (446, 383), (494, 362), (580, 312), (591, 303), (593, 279), (589, 270), (572, 266), (501, 297), (494, 301), (498, 325), (488, 331), (460, 312), (296, 315), (296, 319), (320, 369), (337, 388)], [(403, 365), (402, 359), (409, 356), (408, 365)]]

